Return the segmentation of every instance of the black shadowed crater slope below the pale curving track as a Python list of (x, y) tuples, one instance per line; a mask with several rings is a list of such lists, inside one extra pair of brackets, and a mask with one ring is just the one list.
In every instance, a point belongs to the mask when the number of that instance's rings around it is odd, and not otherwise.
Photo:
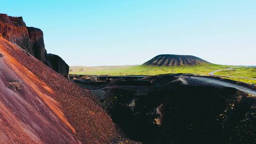
[(192, 86), (181, 78), (160, 75), (111, 79), (92, 93), (130, 139), (144, 144), (256, 140), (256, 98), (233, 88)]

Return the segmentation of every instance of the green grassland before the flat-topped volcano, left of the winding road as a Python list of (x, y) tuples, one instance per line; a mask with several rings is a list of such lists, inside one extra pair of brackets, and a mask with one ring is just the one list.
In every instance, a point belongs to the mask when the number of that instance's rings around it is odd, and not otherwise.
[(117, 69), (101, 69), (69, 72), (70, 74), (84, 75), (157, 75), (166, 73), (192, 73), (200, 75), (208, 75), (209, 72), (226, 69), (231, 66), (217, 64), (201, 64), (195, 66), (146, 66), (137, 65)]

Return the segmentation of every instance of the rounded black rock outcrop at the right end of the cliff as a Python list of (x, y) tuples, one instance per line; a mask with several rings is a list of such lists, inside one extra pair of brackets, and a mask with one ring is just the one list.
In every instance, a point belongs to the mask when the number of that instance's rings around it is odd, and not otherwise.
[(65, 63), (65, 61), (55, 54), (47, 54), (50, 60), (50, 63), (53, 66), (53, 69), (63, 75), (64, 77), (68, 77), (69, 66)]

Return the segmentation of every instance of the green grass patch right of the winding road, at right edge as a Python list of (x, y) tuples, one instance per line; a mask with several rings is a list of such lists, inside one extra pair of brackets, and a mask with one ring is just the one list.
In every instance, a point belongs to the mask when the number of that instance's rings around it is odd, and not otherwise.
[[(256, 68), (247, 68), (240, 67), (230, 70), (222, 70), (219, 72), (215, 72), (216, 75), (225, 75), (225, 76), (236, 76), (236, 77), (244, 77), (244, 78), (256, 78)], [(256, 80), (249, 79), (239, 79), (239, 78), (225, 78), (234, 81), (243, 81), (249, 84), (256, 83)]]

